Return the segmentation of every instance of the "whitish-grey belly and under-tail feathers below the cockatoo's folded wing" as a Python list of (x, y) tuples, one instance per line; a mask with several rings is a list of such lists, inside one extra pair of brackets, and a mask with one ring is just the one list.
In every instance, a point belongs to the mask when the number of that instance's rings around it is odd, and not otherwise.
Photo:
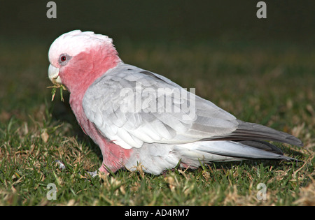
[(244, 159), (282, 159), (297, 161), (283, 156), (277, 147), (267, 142), (250, 141), (198, 141), (182, 145), (165, 145), (145, 143), (141, 148), (134, 149), (132, 156), (125, 164), (130, 170), (136, 170), (141, 163), (147, 173), (159, 175), (163, 170), (174, 168), (179, 161), (183, 168), (197, 168), (200, 163), (240, 161)]

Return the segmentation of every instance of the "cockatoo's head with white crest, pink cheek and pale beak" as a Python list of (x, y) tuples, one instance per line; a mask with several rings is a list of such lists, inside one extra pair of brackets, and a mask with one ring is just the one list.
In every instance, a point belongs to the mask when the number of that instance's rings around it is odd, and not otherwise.
[(48, 58), (49, 79), (65, 85), (70, 92), (88, 87), (121, 61), (111, 38), (80, 30), (59, 36), (50, 45)]

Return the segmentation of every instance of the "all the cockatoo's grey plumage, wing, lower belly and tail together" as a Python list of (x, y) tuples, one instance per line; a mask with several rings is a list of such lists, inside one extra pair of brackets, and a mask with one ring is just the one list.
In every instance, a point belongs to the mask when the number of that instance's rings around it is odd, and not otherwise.
[[(158, 91), (150, 94), (150, 89)], [(123, 89), (127, 92), (121, 94)], [(141, 91), (147, 93), (141, 94)], [(197, 167), (209, 161), (241, 159), (286, 159), (279, 148), (262, 140), (302, 145), (293, 135), (259, 124), (242, 122), (210, 101), (182, 89), (171, 80), (127, 64), (119, 64), (97, 79), (83, 97), (83, 110), (100, 133), (123, 148), (133, 148), (125, 164), (137, 163), (149, 173), (159, 174), (176, 166)], [(125, 91), (125, 90), (124, 90)], [(128, 96), (130, 92), (131, 96)], [(137, 96), (141, 103), (137, 103)], [(194, 103), (188, 97), (193, 97)], [(132, 102), (136, 99), (136, 103)], [(162, 98), (163, 102), (152, 107)], [(167, 103), (171, 101), (170, 103)], [(195, 115), (188, 108), (193, 105)], [(129, 104), (129, 105), (128, 105)], [(167, 112), (168, 105), (172, 111)], [(131, 106), (132, 110), (124, 106)]]

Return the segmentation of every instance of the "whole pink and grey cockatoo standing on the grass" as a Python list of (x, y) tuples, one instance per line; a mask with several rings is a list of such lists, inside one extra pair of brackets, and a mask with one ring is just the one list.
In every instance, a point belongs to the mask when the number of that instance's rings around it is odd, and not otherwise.
[(50, 46), (48, 75), (70, 92), (83, 131), (99, 145), (100, 172), (159, 175), (212, 161), (287, 159), (269, 142), (302, 146), (293, 135), (242, 122), (162, 75), (124, 64), (108, 36), (70, 31)]

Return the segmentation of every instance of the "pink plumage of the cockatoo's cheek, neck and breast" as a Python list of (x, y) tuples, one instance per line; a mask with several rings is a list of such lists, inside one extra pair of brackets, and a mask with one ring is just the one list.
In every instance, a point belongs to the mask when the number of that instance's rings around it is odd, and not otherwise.
[[(90, 87), (97, 78), (109, 71), (110, 68), (117, 66), (121, 60), (118, 55), (115, 55), (103, 59), (99, 58), (96, 61), (94, 59), (94, 62), (91, 63), (85, 61), (88, 60), (88, 57), (97, 58), (91, 53), (78, 54), (78, 56), (73, 57), (74, 60), (71, 60), (73, 61), (72, 65), (66, 66), (63, 70), (64, 73), (60, 75), (62, 82), (70, 92), (69, 103), (74, 115), (76, 115), (78, 123), (83, 131), (89, 135), (97, 145), (99, 145), (99, 148), (102, 151), (103, 164), (115, 172), (123, 167), (123, 163), (130, 157), (132, 149), (124, 149), (110, 140), (107, 140), (106, 137), (99, 133), (94, 124), (87, 119), (83, 110), (82, 101), (87, 88)], [(94, 64), (103, 65), (96, 67), (97, 65)], [(104, 166), (102, 166), (100, 170), (106, 172)]]

